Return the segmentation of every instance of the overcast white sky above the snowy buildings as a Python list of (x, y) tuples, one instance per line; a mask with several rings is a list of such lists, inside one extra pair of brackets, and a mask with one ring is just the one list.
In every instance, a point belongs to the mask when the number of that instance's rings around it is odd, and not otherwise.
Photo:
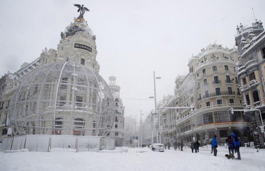
[[(215, 40), (233, 47), (236, 26), (254, 22), (252, 7), (265, 23), (264, 0), (0, 0), (0, 76), (32, 62), (45, 47), (56, 49), (60, 31), (79, 15), (73, 3), (91, 10), (84, 18), (97, 36), (99, 74), (107, 83), (116, 76), (125, 98), (153, 96), (153, 71), (162, 77), (156, 82), (157, 99), (173, 94), (175, 78), (188, 73), (192, 53)], [(123, 104), (125, 116), (138, 118), (141, 109), (154, 108), (152, 99), (123, 99)]]

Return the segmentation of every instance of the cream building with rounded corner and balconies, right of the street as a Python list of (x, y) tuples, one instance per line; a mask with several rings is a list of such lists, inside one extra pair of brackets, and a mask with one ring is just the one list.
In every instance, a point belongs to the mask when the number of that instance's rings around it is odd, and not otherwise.
[(236, 63), (236, 48), (210, 44), (188, 62), (189, 73), (175, 79), (173, 96), (163, 98), (162, 107), (194, 106), (186, 109), (163, 109), (160, 115), (162, 142), (189, 145), (193, 136), (201, 145), (214, 134), (221, 144), (235, 132), (241, 141), (250, 136), (250, 122), (242, 112), (231, 115), (229, 109), (243, 109)]

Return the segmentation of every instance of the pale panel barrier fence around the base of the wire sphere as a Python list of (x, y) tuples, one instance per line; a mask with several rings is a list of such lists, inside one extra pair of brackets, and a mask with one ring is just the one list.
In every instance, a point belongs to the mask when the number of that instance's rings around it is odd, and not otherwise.
[(76, 152), (114, 150), (114, 139), (100, 136), (25, 135), (4, 137), (0, 151), (22, 150), (49, 152), (53, 148), (75, 149)]

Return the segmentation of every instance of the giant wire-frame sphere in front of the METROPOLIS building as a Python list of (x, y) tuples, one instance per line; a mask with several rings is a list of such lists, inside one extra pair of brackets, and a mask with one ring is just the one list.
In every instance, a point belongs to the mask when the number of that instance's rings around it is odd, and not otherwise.
[(108, 84), (94, 69), (74, 62), (47, 64), (28, 74), (11, 104), (15, 135), (105, 136), (115, 118)]

